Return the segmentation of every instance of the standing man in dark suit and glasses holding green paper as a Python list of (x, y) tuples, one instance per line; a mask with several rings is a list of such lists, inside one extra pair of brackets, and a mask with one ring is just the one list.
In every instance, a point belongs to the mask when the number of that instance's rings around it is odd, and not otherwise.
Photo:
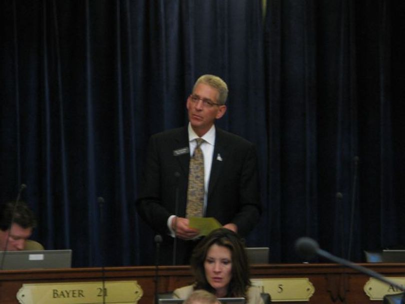
[(225, 114), (227, 94), (221, 78), (202, 75), (187, 98), (188, 125), (149, 140), (136, 204), (163, 237), (161, 264), (188, 264), (199, 233), (190, 216), (214, 217), (241, 236), (259, 220), (255, 147), (214, 124)]

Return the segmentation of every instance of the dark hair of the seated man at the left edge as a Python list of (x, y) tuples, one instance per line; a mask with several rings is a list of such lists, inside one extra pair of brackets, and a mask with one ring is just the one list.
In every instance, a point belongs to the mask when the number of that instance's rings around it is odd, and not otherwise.
[(0, 229), (7, 230), (11, 226), (11, 220), (24, 229), (36, 226), (35, 215), (24, 201), (18, 201), (16, 206), (13, 201), (0, 206)]

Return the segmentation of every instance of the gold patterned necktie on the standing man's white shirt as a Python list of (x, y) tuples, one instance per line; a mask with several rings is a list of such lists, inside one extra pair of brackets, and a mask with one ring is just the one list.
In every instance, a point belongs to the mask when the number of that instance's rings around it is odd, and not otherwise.
[(186, 217), (202, 216), (204, 203), (204, 155), (200, 145), (204, 139), (196, 138), (197, 146), (190, 159), (188, 171), (188, 190)]

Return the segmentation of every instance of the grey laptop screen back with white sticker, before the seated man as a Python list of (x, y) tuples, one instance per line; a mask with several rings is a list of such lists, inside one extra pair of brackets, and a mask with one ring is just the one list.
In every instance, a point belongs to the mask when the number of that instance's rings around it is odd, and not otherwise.
[(0, 251), (1, 261), (0, 270), (70, 268), (71, 249)]

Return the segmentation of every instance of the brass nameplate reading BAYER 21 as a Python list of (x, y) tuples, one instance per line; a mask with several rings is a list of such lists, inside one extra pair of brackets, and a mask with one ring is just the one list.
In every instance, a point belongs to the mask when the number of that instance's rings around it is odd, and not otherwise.
[(21, 304), (137, 303), (143, 290), (136, 281), (22, 284)]

